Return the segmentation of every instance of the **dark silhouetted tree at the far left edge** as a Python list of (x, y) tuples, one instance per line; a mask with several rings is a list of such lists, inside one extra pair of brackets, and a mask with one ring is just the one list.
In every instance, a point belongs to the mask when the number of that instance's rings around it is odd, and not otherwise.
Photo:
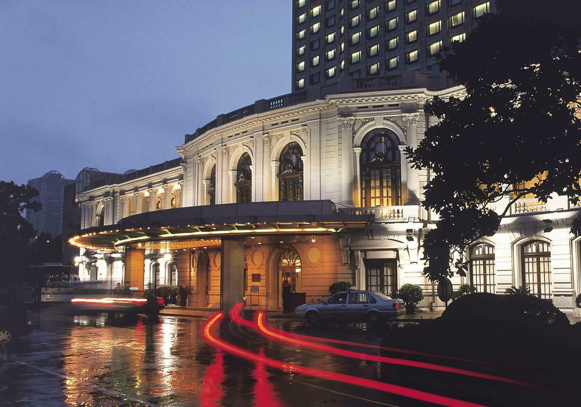
[(37, 196), (33, 187), (0, 181), (0, 246), (8, 253), (2, 261), (2, 272), (23, 266), (30, 258), (29, 243), (36, 232), (22, 213), (41, 209), (41, 204), (32, 200)]

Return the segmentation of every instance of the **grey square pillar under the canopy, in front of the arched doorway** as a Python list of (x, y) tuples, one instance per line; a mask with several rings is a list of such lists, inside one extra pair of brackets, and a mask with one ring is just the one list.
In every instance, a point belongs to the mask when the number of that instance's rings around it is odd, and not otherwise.
[(221, 309), (229, 312), (244, 299), (244, 242), (223, 238), (220, 252)]

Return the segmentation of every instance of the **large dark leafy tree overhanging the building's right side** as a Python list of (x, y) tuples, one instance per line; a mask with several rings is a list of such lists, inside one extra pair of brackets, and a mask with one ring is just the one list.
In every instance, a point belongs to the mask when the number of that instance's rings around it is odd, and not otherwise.
[(466, 95), (436, 97), (426, 112), (440, 122), (406, 150), (432, 175), (422, 202), (440, 216), (423, 244), (432, 281), (454, 268), (465, 276), (465, 248), (493, 235), (519, 198), (581, 195), (581, 2), (497, 5), (443, 50), (440, 67)]

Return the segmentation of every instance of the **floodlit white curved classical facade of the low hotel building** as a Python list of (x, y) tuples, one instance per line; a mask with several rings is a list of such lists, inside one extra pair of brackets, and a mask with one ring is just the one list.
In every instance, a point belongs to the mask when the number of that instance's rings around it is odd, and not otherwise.
[[(410, 282), (424, 288), (420, 306), (443, 306), (422, 276), (421, 239), (437, 222), (420, 205), (429, 173), (411, 168), (403, 150), (436, 123), (425, 104), (451, 95), (462, 88), (360, 89), (221, 115), (186, 136), (179, 166), (77, 194), (84, 231), (70, 242), (88, 249), (81, 276), (186, 286), (198, 306), (249, 304), (256, 285), (252, 303), (268, 309), (281, 307), (287, 283), (314, 301), (335, 281), (386, 293)], [(522, 199), (496, 235), (468, 248), (471, 273), (455, 288), (529, 284), (573, 311), (577, 215), (561, 197)]]

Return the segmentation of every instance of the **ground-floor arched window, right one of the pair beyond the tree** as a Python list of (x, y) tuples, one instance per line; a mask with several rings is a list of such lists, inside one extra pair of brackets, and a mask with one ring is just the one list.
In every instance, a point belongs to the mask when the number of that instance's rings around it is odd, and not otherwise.
[(551, 245), (533, 241), (522, 246), (522, 281), (530, 293), (551, 299)]

